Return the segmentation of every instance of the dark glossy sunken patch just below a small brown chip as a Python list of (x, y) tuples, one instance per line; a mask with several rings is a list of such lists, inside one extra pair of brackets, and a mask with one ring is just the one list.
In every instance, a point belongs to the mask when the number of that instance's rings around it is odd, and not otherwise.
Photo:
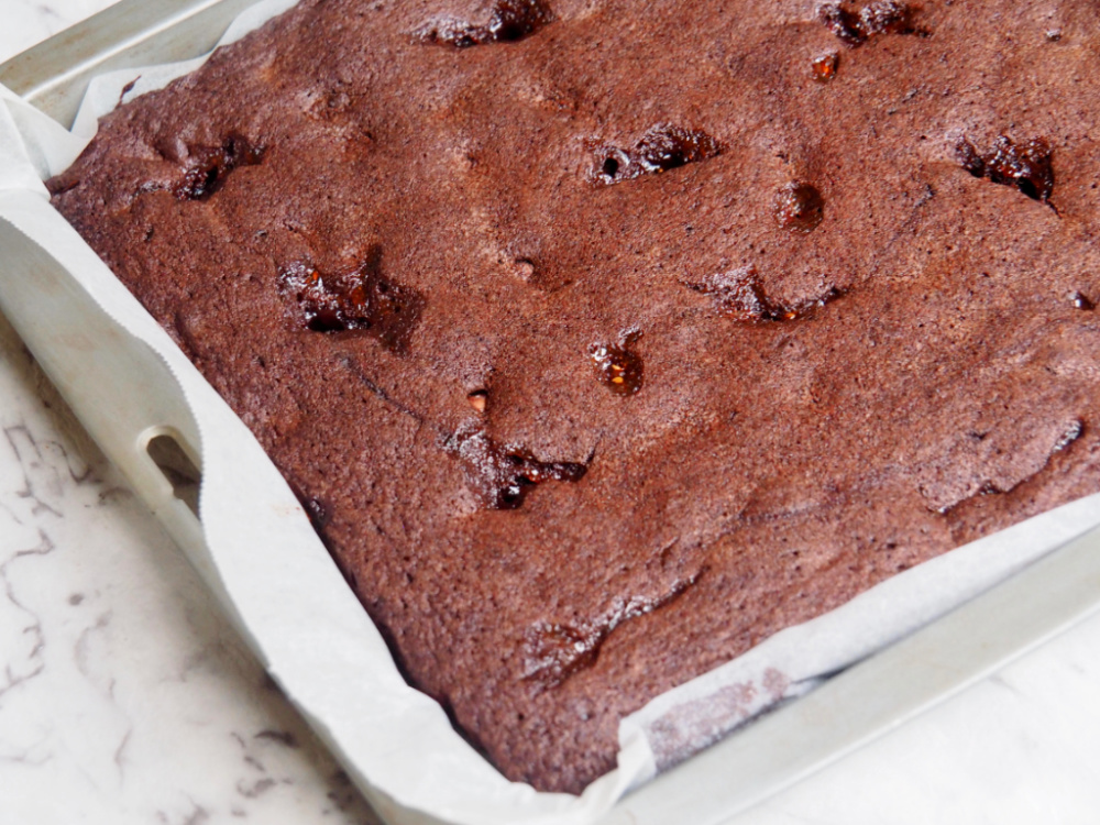
[(587, 464), (539, 461), (522, 448), (501, 447), (477, 425), (464, 425), (447, 442), (462, 461), (466, 482), (485, 507), (512, 510), (543, 482), (579, 482)]

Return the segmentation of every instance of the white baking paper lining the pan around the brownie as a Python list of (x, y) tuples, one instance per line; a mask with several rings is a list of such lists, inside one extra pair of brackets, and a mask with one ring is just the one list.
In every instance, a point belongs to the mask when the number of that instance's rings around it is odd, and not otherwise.
[[(257, 2), (238, 18), (222, 43), (295, 2)], [(658, 771), (1100, 525), (1100, 496), (1092, 496), (901, 573), (839, 609), (777, 634), (624, 719), (617, 770), (581, 796), (538, 793), (508, 782), (454, 733), (435, 702), (403, 681), (380, 634), (251, 433), (48, 206), (41, 182), (76, 158), (128, 84), (136, 78), (124, 92), (129, 100), (201, 62), (98, 77), (72, 133), (0, 87), (0, 217), (48, 251), (95, 305), (133, 337), (134, 348), (155, 353), (148, 362), (161, 365), (165, 380), (180, 391), (187, 408), (182, 414), (194, 419), (199, 433), (195, 447), (204, 469), (202, 535), (182, 543), (227, 601), (273, 676), (395, 823), (428, 822), (422, 815), (455, 825), (595, 823), (627, 790)], [(41, 345), (48, 346), (48, 339)], [(136, 442), (138, 433), (129, 437)]]

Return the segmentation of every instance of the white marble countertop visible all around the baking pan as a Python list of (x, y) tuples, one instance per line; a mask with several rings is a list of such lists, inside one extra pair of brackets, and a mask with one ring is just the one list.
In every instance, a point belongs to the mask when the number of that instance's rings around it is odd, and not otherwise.
[[(110, 4), (3, 2), (0, 61)], [(0, 825), (249, 820), (378, 822), (0, 316)], [(1100, 617), (733, 823), (1097, 821)]]

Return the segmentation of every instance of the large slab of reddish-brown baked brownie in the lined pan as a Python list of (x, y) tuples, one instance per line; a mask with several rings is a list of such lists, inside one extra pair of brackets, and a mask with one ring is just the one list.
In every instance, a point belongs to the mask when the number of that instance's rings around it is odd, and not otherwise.
[(305, 0), (51, 188), (410, 681), (579, 791), (1100, 488), (1098, 53), (1091, 0)]

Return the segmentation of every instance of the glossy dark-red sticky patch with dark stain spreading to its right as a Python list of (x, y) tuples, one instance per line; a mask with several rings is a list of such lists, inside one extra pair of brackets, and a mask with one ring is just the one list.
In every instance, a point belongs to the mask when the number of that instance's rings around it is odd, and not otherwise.
[(371, 250), (358, 268), (336, 276), (297, 262), (279, 277), (284, 297), (293, 299), (298, 324), (314, 332), (362, 330), (387, 350), (404, 354), (420, 321), (425, 299), (410, 287), (382, 275), (382, 252)]

